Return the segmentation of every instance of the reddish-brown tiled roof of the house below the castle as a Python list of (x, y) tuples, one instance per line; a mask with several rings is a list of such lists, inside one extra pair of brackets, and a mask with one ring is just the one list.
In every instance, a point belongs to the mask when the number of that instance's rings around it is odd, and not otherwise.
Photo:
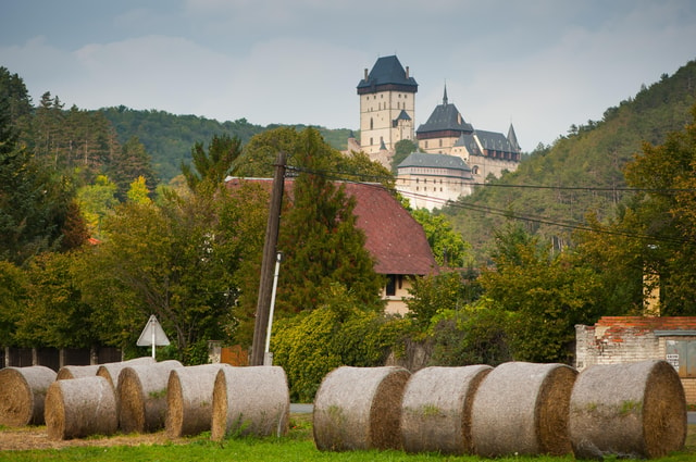
[[(241, 182), (272, 184), (270, 178), (231, 178), (228, 187)], [(291, 196), (294, 182), (285, 180)], [(356, 198), (357, 226), (365, 234), (365, 248), (375, 258), (378, 274), (425, 275), (437, 273), (437, 263), (423, 227), (378, 184), (344, 183)]]

